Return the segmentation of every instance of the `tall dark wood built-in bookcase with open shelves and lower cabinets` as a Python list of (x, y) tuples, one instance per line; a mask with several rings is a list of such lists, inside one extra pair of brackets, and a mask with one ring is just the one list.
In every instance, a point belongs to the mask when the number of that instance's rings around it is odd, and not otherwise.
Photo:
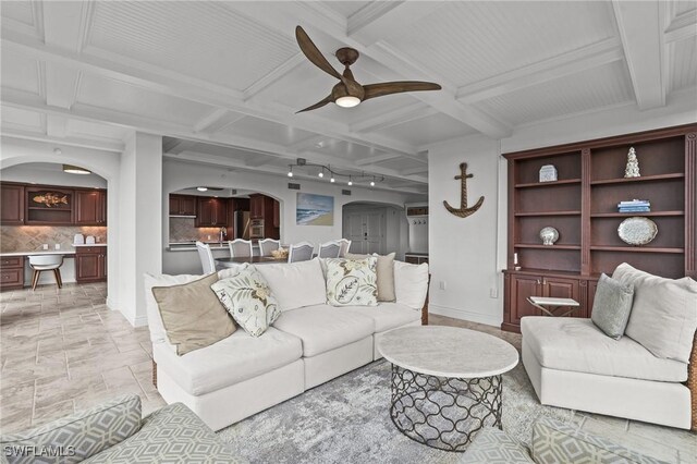
[[(623, 178), (629, 147), (639, 178)], [(519, 331), (522, 317), (540, 315), (527, 302), (534, 295), (574, 298), (580, 309), (572, 317), (590, 317), (599, 276), (622, 262), (667, 278), (697, 278), (697, 124), (504, 157), (510, 184), (502, 329)], [(557, 168), (558, 181), (538, 182), (545, 164)], [(620, 202), (635, 198), (648, 199), (651, 211), (617, 211)], [(651, 243), (622, 242), (617, 227), (631, 217), (656, 222)], [(559, 230), (555, 245), (541, 244), (543, 227)]]

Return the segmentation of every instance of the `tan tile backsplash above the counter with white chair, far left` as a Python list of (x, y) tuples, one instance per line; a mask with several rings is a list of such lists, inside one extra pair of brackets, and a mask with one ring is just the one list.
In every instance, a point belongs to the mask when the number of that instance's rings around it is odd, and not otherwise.
[(70, 248), (75, 234), (94, 235), (97, 243), (107, 242), (106, 227), (80, 225), (3, 225), (0, 228), (0, 252), (34, 252), (47, 244), (54, 249), (60, 244), (62, 249)]

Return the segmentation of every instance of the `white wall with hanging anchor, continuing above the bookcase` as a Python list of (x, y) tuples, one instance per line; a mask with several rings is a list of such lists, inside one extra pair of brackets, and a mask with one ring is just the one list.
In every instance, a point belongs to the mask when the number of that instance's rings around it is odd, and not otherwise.
[[(506, 264), (506, 163), (501, 152), (587, 141), (697, 122), (693, 94), (676, 94), (669, 105), (638, 111), (629, 105), (519, 127), (508, 138), (472, 136), (429, 147), (430, 310), (499, 326), (503, 319)], [(445, 211), (442, 202), (460, 204), (458, 163), (467, 162), (469, 204), (486, 197), (466, 219)], [(445, 290), (440, 290), (440, 282)], [(491, 292), (497, 295), (491, 297)]]

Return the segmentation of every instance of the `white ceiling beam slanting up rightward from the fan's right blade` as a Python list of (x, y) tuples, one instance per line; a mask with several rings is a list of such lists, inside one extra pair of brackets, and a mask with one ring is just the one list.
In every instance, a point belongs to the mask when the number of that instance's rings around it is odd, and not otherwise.
[(622, 42), (609, 38), (568, 53), (457, 88), (457, 100), (470, 105), (624, 59)]

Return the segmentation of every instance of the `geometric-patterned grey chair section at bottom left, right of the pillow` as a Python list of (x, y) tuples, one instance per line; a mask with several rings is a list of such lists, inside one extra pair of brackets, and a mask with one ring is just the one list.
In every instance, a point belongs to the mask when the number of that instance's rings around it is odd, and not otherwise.
[(182, 403), (143, 419), (140, 431), (85, 463), (244, 463)]

